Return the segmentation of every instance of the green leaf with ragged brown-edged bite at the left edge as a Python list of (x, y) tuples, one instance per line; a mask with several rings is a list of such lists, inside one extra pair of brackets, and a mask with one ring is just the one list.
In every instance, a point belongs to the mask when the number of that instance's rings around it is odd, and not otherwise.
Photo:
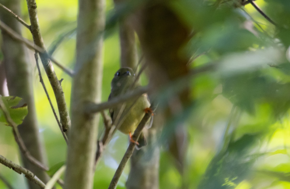
[[(22, 101), (22, 98), (17, 96), (1, 96), (1, 98), (12, 120), (17, 125), (20, 125), (28, 113), (27, 104)], [(8, 125), (2, 109), (0, 109), (0, 124), (1, 123)]]

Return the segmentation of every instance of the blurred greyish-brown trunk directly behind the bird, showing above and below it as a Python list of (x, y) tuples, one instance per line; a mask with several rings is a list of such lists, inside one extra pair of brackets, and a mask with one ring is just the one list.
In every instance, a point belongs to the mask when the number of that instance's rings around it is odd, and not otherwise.
[[(124, 1), (115, 0), (115, 6)], [(135, 31), (130, 18), (119, 21), (121, 46), (121, 67), (137, 70), (137, 47)], [(145, 129), (146, 130), (146, 129)], [(131, 157), (131, 167), (126, 187), (128, 189), (159, 188), (159, 147), (156, 146), (156, 129), (153, 126), (146, 133), (147, 146), (135, 150)]]

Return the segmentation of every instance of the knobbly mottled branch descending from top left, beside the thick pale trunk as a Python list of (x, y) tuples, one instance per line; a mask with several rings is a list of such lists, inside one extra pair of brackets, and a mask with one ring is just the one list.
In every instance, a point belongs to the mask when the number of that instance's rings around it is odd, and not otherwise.
[[(42, 49), (45, 49), (43, 39), (40, 33), (39, 23), (38, 23), (36, 2), (35, 0), (26, 0), (26, 2), (27, 2), (27, 7), (28, 7), (29, 19), (31, 23), (30, 31), (32, 34), (33, 41), (36, 45), (38, 45)], [(64, 98), (64, 91), (62, 90), (61, 83), (59, 82), (57, 76), (55, 75), (54, 68), (49, 61), (47, 52), (46, 51), (39, 52), (39, 56), (44, 66), (46, 75), (48, 76), (50, 85), (55, 94), (62, 129), (64, 132), (66, 132), (70, 127), (70, 117), (69, 117), (68, 109), (66, 106), (66, 100)]]

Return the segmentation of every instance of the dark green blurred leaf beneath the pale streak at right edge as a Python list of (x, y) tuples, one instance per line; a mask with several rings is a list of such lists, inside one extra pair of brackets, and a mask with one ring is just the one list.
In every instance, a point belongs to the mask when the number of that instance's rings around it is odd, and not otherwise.
[(290, 83), (279, 83), (259, 71), (223, 78), (223, 95), (233, 104), (249, 113), (255, 106), (268, 103), (274, 117), (284, 114), (290, 106)]

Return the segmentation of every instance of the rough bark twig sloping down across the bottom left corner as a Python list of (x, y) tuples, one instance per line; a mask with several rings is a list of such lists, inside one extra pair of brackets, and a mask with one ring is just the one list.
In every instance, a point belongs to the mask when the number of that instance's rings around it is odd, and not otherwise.
[(13, 163), (11, 160), (6, 159), (2, 155), (0, 155), (0, 163), (14, 170), (16, 173), (19, 173), (19, 174), (23, 173), (26, 178), (33, 181), (35, 184), (39, 185), (40, 188), (45, 187), (45, 184), (30, 170), (27, 170), (26, 168), (23, 168), (20, 165)]

